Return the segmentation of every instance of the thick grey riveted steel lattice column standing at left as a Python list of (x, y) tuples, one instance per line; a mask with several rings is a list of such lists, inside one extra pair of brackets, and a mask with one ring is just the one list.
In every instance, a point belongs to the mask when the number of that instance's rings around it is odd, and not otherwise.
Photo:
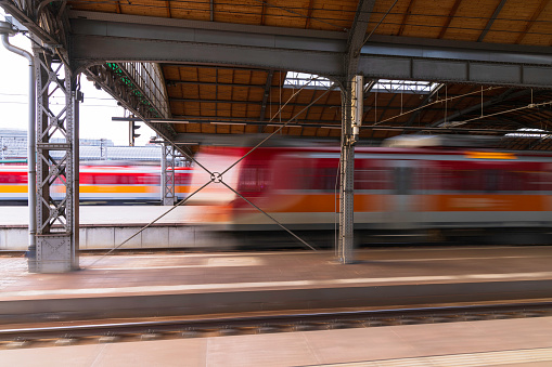
[[(34, 51), (37, 248), (36, 258), (29, 259), (29, 272), (69, 272), (79, 267), (77, 94), (80, 92), (75, 91), (70, 73), (61, 60), (40, 49)], [(55, 103), (51, 103), (52, 97), (56, 97)]]

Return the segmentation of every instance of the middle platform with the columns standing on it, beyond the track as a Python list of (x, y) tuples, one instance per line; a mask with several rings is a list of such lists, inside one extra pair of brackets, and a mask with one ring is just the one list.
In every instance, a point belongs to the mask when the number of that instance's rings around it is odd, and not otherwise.
[(0, 322), (412, 306), (552, 298), (552, 248), (85, 255), (81, 271), (28, 274), (0, 258)]

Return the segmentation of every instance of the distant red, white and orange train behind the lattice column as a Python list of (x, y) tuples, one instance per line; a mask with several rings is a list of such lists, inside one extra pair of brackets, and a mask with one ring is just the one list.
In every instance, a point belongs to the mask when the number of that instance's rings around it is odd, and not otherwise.
[[(177, 198), (188, 195), (192, 168), (175, 168)], [(161, 202), (159, 166), (136, 162), (105, 162), (80, 166), (80, 202), (82, 204), (155, 204)], [(65, 187), (54, 183), (51, 195), (61, 199)], [(27, 202), (27, 166), (0, 165), (0, 204)]]

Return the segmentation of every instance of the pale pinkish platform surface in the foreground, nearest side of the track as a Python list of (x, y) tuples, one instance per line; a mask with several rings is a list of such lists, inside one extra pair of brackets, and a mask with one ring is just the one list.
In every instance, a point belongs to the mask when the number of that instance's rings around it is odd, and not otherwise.
[(1, 366), (552, 366), (552, 317), (28, 348)]

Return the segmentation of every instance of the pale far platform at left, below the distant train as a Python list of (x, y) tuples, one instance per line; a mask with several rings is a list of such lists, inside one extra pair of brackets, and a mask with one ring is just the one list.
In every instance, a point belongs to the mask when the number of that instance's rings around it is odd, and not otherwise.
[[(0, 251), (25, 251), (28, 246), (27, 207), (0, 207)], [(79, 208), (80, 249), (112, 249), (141, 226), (165, 213), (166, 206), (86, 206)], [(125, 244), (125, 249), (205, 248), (214, 240), (203, 228), (209, 219), (222, 224), (220, 214), (208, 207), (182, 206)]]

